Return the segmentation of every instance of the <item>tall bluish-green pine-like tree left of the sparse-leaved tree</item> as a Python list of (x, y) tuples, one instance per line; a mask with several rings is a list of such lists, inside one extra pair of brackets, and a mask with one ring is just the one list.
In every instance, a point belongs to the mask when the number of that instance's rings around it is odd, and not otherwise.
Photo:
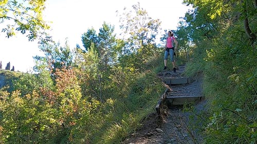
[[(89, 91), (91, 95), (103, 102), (106, 99), (109, 75), (112, 73), (124, 42), (116, 39), (114, 26), (103, 23), (96, 34), (96, 30), (91, 28), (82, 34), (82, 43), (86, 51), (77, 48), (75, 59), (81, 74), (86, 81), (83, 81), (83, 91)], [(85, 89), (84, 89), (85, 88)]]

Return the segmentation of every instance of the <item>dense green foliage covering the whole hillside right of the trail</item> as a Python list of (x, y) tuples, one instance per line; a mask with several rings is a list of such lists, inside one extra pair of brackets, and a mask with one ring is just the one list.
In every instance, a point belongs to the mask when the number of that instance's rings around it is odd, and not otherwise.
[(186, 30), (185, 40), (194, 45), (187, 73), (205, 74), (204, 94), (211, 107), (201, 122), (206, 143), (255, 143), (256, 4), (185, 2), (195, 9), (185, 15), (178, 31)]

